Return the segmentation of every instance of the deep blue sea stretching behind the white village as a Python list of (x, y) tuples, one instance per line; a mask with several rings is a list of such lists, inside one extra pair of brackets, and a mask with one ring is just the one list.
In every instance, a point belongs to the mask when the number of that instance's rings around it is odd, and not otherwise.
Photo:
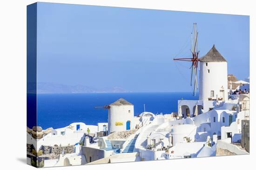
[(135, 116), (144, 111), (155, 114), (177, 112), (178, 100), (197, 100), (191, 92), (38, 94), (37, 126), (61, 128), (74, 122), (97, 125), (108, 122), (108, 110), (94, 108), (124, 98), (134, 104)]

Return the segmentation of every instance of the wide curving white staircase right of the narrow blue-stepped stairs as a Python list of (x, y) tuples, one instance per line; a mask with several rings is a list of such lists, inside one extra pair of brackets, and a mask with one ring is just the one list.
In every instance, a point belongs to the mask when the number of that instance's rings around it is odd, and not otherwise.
[(151, 132), (153, 132), (158, 126), (160, 125), (148, 125), (146, 127), (144, 127), (145, 129), (143, 129), (141, 131), (141, 133), (139, 134), (136, 143), (135, 143), (135, 148), (136, 149), (147, 149), (147, 137), (148, 135), (150, 135)]

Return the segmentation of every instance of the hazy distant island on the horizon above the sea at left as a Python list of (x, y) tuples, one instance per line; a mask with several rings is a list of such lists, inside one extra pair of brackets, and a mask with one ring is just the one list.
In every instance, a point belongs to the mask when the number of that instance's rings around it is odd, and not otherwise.
[[(35, 93), (33, 83), (28, 87), (28, 93)], [(66, 85), (54, 82), (38, 82), (37, 93), (129, 93), (121, 87), (106, 87), (106, 88), (93, 88), (85, 85)]]

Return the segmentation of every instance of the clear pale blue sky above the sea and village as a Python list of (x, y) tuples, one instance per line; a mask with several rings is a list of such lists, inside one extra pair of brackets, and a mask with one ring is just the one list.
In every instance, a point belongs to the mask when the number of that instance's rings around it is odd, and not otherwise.
[(249, 76), (249, 16), (38, 3), (37, 21), (38, 82), (191, 91), (173, 58), (189, 57), (194, 22), (200, 57), (215, 44), (229, 74)]

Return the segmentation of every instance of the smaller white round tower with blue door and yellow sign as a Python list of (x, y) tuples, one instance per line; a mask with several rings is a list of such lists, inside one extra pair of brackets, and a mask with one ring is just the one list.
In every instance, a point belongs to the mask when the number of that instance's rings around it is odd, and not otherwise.
[(108, 134), (134, 129), (134, 106), (124, 99), (109, 105)]

